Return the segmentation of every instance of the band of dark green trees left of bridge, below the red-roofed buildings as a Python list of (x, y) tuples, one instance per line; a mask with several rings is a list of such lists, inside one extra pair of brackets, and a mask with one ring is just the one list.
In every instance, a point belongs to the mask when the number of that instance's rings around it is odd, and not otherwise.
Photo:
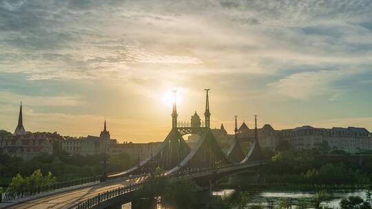
[[(55, 145), (57, 146), (57, 145)], [(34, 170), (41, 173), (52, 172), (59, 181), (74, 179), (78, 177), (90, 177), (103, 173), (104, 155), (69, 155), (64, 151), (56, 151), (53, 155), (43, 153), (30, 161), (21, 158), (0, 155), (0, 177), (9, 181), (10, 178), (20, 173), (23, 176), (32, 175)], [(108, 173), (116, 173), (132, 167), (134, 160), (126, 153), (112, 155), (108, 164)], [(4, 182), (7, 184), (7, 182)]]

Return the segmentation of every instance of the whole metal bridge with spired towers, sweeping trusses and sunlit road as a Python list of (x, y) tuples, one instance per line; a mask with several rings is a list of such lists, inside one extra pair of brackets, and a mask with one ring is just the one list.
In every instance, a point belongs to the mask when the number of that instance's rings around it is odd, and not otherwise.
[[(234, 143), (225, 153), (210, 127), (209, 89), (206, 90), (205, 125), (179, 126), (176, 102), (172, 109), (172, 129), (165, 140), (151, 156), (136, 166), (121, 173), (109, 175), (105, 182), (94, 183), (82, 187), (51, 192), (30, 199), (5, 204), (0, 208), (112, 208), (130, 202), (134, 193), (141, 188), (149, 173), (156, 168), (165, 170), (163, 175), (169, 181), (193, 179), (198, 184), (210, 184), (224, 176), (248, 172), (262, 164), (263, 160), (257, 137), (257, 120), (255, 118), (254, 137), (242, 139), (238, 137), (237, 121), (235, 118)], [(176, 94), (174, 92), (174, 94)], [(197, 134), (200, 139), (190, 148), (183, 139), (183, 135)], [(243, 153), (241, 140), (251, 141), (248, 153)]]

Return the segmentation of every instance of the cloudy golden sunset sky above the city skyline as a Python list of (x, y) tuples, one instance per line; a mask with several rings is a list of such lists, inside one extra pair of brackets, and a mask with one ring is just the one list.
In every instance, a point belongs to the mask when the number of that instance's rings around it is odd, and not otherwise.
[(202, 116), (372, 131), (372, 1), (0, 0), (0, 129), (165, 138)]

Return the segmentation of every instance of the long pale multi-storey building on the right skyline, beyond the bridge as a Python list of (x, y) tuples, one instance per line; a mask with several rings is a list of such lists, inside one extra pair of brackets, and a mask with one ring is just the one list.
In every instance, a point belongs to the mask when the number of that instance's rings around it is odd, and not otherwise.
[[(239, 137), (254, 137), (254, 129), (245, 122), (238, 129)], [(368, 151), (371, 147), (371, 133), (364, 128), (349, 126), (331, 129), (301, 126), (295, 129), (275, 130), (270, 124), (258, 129), (258, 141), (262, 148), (275, 151), (280, 142), (288, 141), (296, 150), (320, 149), (323, 142), (329, 145), (329, 151), (342, 150), (348, 153)]]

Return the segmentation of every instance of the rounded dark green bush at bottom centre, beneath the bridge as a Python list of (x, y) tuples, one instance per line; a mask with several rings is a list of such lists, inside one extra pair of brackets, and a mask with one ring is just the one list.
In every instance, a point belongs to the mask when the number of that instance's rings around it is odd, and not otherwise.
[(198, 190), (198, 186), (196, 186), (194, 181), (181, 179), (179, 182), (165, 187), (161, 201), (165, 206), (170, 206), (170, 208), (193, 208), (197, 198), (196, 190)]

